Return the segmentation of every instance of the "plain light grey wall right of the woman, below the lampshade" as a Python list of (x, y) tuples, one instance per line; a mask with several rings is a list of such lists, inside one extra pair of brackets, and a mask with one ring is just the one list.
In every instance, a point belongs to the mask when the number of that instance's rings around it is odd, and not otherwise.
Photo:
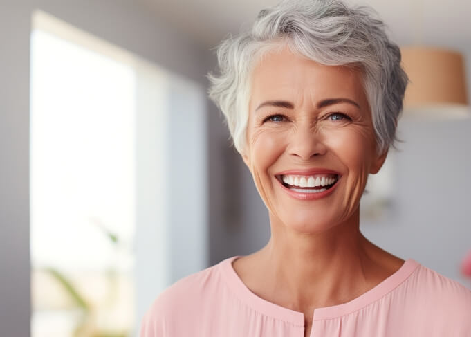
[(471, 118), (403, 118), (395, 154), (394, 214), (362, 233), (387, 251), (471, 288), (459, 262), (471, 249)]

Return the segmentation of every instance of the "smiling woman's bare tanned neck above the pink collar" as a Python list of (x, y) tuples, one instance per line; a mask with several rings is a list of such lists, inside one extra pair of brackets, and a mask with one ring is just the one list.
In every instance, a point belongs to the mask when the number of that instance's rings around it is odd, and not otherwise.
[(367, 291), (370, 267), (382, 250), (360, 233), (358, 210), (322, 233), (299, 233), (275, 219), (270, 223), (272, 236), (259, 251), (268, 297), (306, 311), (348, 302)]

